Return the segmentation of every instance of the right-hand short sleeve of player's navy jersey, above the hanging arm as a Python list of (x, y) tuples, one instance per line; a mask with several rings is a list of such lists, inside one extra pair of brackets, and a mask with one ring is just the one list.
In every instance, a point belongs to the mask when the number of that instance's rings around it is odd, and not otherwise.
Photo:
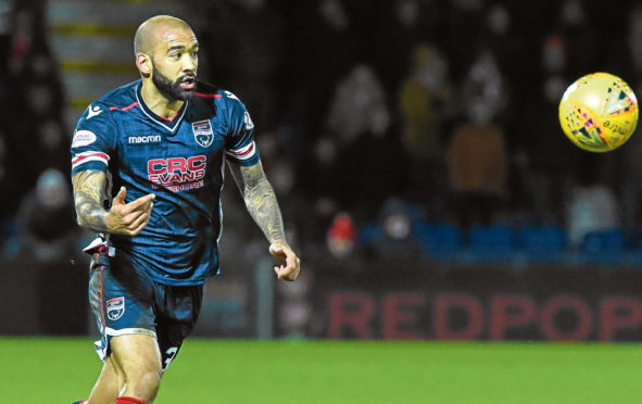
[(228, 134), (226, 141), (227, 160), (243, 166), (259, 163), (259, 150), (254, 143), (254, 123), (246, 105), (231, 92), (224, 91), (227, 109)]

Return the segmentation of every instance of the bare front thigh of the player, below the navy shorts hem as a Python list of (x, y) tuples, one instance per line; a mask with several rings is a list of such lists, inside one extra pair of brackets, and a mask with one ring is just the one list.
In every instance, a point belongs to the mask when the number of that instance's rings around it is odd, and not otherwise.
[(110, 344), (111, 358), (123, 380), (119, 395), (151, 403), (159, 392), (162, 376), (156, 339), (149, 334), (126, 334), (112, 338)]

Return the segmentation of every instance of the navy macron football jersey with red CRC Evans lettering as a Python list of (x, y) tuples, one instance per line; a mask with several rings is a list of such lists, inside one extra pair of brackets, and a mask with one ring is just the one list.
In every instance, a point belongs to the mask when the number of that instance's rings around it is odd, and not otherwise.
[(136, 80), (87, 108), (72, 142), (72, 176), (109, 171), (110, 201), (121, 186), (126, 203), (155, 193), (148, 225), (110, 242), (161, 283), (202, 283), (218, 272), (225, 163), (259, 162), (254, 124), (236, 96), (202, 83), (176, 116), (163, 118), (144, 104), (141, 86)]

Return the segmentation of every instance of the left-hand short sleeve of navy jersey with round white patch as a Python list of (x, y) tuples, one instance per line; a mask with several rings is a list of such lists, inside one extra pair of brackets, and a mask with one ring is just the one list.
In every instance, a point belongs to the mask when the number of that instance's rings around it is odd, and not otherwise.
[(114, 152), (116, 125), (110, 109), (92, 103), (80, 116), (72, 140), (72, 176), (85, 169), (106, 171)]

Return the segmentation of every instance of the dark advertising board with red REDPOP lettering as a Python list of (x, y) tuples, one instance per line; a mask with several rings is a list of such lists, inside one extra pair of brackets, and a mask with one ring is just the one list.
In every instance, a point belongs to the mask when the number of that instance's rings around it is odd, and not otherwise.
[(325, 273), (320, 338), (642, 340), (642, 269), (475, 268)]

